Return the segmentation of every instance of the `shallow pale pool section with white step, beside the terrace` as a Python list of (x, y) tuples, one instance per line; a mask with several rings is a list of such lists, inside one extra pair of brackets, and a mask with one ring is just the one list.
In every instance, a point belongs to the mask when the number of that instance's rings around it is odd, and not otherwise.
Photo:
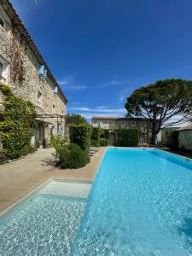
[(89, 184), (52, 182), (23, 201), (0, 218), (0, 255), (69, 255), (89, 190)]

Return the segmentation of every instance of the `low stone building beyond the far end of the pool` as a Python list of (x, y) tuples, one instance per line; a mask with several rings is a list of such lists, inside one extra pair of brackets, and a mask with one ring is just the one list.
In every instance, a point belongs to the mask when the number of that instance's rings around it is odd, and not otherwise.
[(150, 143), (152, 127), (150, 119), (93, 116), (91, 124), (110, 131), (110, 144), (113, 144), (115, 139), (113, 131), (119, 128), (135, 128), (139, 131), (140, 143)]

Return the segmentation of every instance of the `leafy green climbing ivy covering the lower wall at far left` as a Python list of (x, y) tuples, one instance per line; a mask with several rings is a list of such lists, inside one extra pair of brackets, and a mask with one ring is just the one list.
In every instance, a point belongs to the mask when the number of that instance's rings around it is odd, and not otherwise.
[(3, 143), (3, 156), (15, 159), (29, 153), (33, 126), (35, 122), (35, 107), (32, 102), (26, 102), (11, 93), (8, 85), (0, 84), (0, 90), (5, 96), (4, 111), (0, 113), (0, 138)]

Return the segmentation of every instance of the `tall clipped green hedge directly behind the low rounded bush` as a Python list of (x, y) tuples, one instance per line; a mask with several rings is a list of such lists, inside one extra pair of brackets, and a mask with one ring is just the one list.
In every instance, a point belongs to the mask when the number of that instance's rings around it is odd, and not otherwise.
[(78, 144), (83, 150), (90, 148), (90, 126), (88, 125), (70, 125), (69, 135), (71, 143)]

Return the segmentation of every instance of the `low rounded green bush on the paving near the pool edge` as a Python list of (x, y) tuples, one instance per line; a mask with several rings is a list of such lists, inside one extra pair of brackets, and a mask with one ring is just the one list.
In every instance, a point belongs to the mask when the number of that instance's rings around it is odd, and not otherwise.
[(85, 166), (90, 161), (90, 157), (86, 151), (82, 150), (77, 144), (68, 144), (58, 151), (58, 165), (62, 169), (79, 168)]

